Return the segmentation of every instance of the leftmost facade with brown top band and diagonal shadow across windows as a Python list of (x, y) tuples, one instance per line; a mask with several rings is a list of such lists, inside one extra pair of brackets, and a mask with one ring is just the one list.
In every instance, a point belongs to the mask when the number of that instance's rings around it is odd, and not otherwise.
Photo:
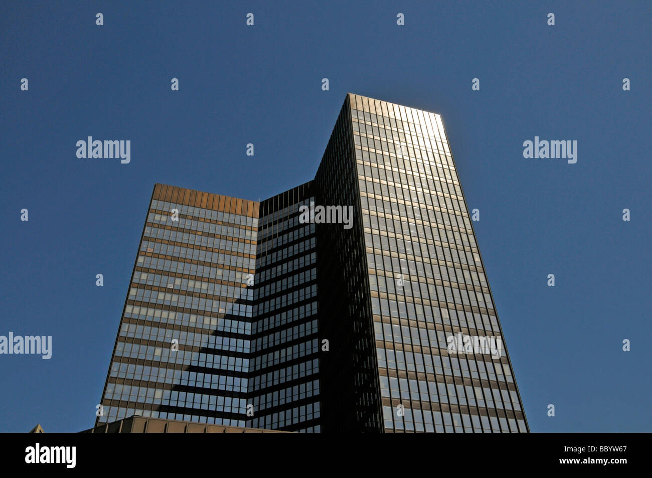
[(258, 203), (156, 185), (96, 424), (244, 426)]

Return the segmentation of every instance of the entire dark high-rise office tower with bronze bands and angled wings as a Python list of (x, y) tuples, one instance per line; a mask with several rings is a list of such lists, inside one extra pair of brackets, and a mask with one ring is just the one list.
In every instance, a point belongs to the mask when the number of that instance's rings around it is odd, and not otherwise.
[(156, 185), (104, 396), (302, 432), (527, 432), (441, 117), (347, 95), (263, 202)]

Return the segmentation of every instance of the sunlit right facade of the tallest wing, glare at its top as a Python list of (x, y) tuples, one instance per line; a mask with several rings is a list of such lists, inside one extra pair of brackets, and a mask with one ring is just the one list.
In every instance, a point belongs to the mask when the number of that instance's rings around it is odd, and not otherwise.
[(385, 430), (527, 432), (507, 353), (450, 350), (502, 333), (441, 117), (349, 104)]

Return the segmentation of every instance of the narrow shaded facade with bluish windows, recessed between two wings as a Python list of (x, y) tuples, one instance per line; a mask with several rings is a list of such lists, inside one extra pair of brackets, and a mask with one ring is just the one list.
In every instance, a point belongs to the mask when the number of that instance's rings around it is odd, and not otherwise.
[(252, 428), (321, 431), (317, 250), (299, 207), (312, 182), (260, 203), (250, 355)]

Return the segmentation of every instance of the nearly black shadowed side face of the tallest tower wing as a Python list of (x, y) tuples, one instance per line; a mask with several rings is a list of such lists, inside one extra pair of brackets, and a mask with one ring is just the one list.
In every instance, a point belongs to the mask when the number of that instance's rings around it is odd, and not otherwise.
[(317, 224), (325, 432), (381, 431), (378, 366), (347, 98), (315, 177), (318, 203), (353, 209), (350, 228)]

